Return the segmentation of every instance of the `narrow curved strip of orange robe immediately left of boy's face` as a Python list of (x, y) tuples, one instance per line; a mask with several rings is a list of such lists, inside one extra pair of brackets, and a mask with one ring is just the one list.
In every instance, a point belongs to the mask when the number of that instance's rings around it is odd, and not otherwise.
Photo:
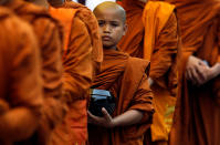
[(103, 61), (103, 45), (95, 15), (87, 7), (73, 1), (66, 1), (63, 8), (77, 10), (76, 15), (85, 23), (93, 49), (94, 72), (97, 73)]

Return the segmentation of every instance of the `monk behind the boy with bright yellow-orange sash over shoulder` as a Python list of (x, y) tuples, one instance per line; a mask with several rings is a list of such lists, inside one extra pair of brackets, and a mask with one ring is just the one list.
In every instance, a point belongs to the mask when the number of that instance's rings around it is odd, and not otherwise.
[[(128, 31), (118, 46), (132, 56), (150, 61), (148, 82), (155, 115), (145, 144), (168, 144), (178, 87), (179, 33), (175, 6), (147, 0), (122, 0)], [(143, 21), (142, 21), (143, 20)]]

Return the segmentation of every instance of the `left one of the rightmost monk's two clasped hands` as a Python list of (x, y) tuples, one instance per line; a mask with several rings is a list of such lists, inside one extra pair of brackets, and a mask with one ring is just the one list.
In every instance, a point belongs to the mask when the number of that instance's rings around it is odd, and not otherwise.
[(208, 79), (208, 72), (205, 74), (205, 71), (208, 71), (208, 68), (205, 62), (196, 56), (189, 56), (186, 77), (196, 85), (201, 85)]

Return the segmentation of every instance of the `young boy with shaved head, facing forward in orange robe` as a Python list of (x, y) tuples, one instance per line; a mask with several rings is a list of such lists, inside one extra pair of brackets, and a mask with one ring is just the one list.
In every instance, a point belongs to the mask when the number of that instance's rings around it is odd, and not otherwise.
[(143, 145), (144, 133), (151, 124), (153, 94), (147, 82), (149, 62), (118, 51), (117, 43), (126, 32), (126, 14), (115, 2), (103, 2), (94, 10), (103, 41), (104, 61), (93, 86), (111, 91), (116, 108), (104, 117), (88, 112), (90, 145)]

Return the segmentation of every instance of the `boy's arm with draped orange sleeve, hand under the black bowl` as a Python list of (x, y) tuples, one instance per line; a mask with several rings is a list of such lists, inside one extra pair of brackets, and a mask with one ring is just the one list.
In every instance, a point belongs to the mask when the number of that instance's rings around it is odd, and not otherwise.
[(114, 118), (112, 118), (105, 108), (102, 110), (104, 117), (94, 116), (88, 112), (88, 123), (103, 127), (117, 127), (146, 122), (151, 118), (154, 113), (151, 101), (153, 94), (147, 82), (147, 75), (145, 74), (128, 111)]

